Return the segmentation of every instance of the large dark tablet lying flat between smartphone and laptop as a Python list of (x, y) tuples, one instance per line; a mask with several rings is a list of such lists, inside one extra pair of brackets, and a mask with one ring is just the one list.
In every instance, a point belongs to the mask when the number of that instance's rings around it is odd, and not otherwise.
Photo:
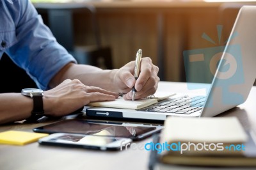
[(34, 128), (39, 133), (73, 133), (86, 135), (103, 135), (127, 137), (134, 141), (145, 139), (163, 129), (163, 126), (143, 125), (113, 121), (63, 120), (43, 127)]

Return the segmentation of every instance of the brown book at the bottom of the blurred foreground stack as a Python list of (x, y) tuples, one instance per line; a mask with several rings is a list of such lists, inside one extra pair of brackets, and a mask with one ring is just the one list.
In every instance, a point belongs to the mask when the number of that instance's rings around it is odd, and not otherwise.
[[(248, 133), (248, 141), (244, 143), (244, 151), (240, 154), (223, 154), (218, 155), (178, 155), (166, 154), (159, 156), (158, 160), (164, 164), (177, 166), (195, 166), (195, 167), (256, 167), (256, 143), (253, 132)], [(210, 168), (211, 169), (211, 168)]]

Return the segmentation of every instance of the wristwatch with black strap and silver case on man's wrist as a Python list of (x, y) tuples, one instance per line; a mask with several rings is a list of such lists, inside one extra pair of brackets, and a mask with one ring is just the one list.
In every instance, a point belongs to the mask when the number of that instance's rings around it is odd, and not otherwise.
[(21, 94), (33, 98), (33, 110), (31, 112), (31, 117), (27, 120), (37, 121), (45, 116), (43, 104), (44, 91), (42, 89), (26, 88), (21, 90)]

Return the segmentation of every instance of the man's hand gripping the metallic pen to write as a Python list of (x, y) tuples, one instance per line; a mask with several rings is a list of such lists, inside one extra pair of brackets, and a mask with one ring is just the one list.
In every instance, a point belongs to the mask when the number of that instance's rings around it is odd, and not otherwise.
[(157, 76), (159, 68), (153, 65), (150, 58), (141, 59), (140, 75), (137, 81), (134, 78), (135, 61), (127, 63), (119, 70), (116, 70), (114, 84), (118, 86), (119, 92), (127, 93), (125, 100), (131, 100), (131, 89), (135, 86), (136, 98), (145, 98), (156, 92), (159, 82)]

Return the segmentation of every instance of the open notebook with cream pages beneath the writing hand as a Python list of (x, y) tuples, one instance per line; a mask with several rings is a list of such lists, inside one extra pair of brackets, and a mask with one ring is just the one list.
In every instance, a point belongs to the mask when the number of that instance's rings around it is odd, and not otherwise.
[(135, 101), (124, 100), (124, 98), (119, 97), (114, 101), (92, 102), (88, 105), (94, 107), (111, 107), (119, 109), (141, 109), (143, 107), (147, 107), (148, 105), (156, 104), (157, 102), (172, 97), (173, 95), (175, 95), (175, 93), (157, 91), (152, 97), (141, 98)]

